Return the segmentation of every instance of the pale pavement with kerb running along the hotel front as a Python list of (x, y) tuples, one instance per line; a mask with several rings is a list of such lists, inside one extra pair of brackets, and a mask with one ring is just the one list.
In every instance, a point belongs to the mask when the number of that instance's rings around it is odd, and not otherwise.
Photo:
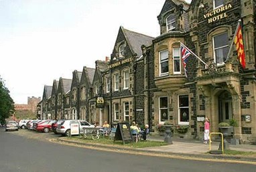
[[(151, 153), (155, 155), (172, 155), (179, 157), (197, 157), (198, 159), (222, 159), (224, 161), (233, 161), (233, 163), (245, 163), (251, 162), (256, 165), (256, 155), (225, 155), (225, 154), (211, 154), (209, 151), (218, 150), (220, 142), (212, 141), (209, 145), (202, 143), (195, 139), (182, 139), (182, 138), (172, 138), (172, 144), (164, 145), (159, 147), (144, 147), (144, 148), (127, 148), (127, 147), (117, 147), (116, 145), (103, 145), (103, 144), (92, 144), (84, 143), (80, 141), (74, 141), (66, 139), (66, 137), (61, 137), (59, 140), (66, 141), (69, 143), (76, 143), (87, 145), (90, 147), (97, 147), (99, 149), (119, 149), (126, 151), (135, 151), (141, 153)], [(149, 141), (164, 141), (164, 137), (159, 135), (150, 135)], [(245, 151), (256, 153), (256, 145), (229, 145), (231, 150), (235, 151)], [(209, 160), (210, 161), (210, 160)]]

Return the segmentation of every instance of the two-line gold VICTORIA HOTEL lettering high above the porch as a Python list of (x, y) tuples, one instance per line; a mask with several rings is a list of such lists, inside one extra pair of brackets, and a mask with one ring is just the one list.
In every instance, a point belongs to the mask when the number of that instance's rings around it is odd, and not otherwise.
[(226, 11), (231, 8), (232, 8), (232, 5), (229, 3), (227, 5), (219, 7), (218, 9), (214, 9), (213, 11), (210, 11), (209, 13), (204, 14), (204, 19), (208, 19), (208, 23), (212, 23), (214, 21), (218, 21), (219, 19), (228, 17)]

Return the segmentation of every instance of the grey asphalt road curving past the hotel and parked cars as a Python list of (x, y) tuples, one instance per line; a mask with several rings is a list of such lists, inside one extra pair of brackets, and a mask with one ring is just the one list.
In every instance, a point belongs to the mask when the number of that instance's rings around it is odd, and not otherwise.
[(255, 165), (132, 155), (47, 141), (54, 137), (0, 129), (0, 171), (255, 171)]

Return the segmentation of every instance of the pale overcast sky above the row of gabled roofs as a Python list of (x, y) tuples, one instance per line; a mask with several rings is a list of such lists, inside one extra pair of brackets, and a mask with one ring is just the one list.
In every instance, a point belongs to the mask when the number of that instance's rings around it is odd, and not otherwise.
[[(0, 0), (0, 77), (13, 101), (110, 57), (119, 27), (159, 36), (165, 0)], [(188, 0), (190, 3), (190, 0)], [(1, 97), (0, 97), (1, 98)]]

